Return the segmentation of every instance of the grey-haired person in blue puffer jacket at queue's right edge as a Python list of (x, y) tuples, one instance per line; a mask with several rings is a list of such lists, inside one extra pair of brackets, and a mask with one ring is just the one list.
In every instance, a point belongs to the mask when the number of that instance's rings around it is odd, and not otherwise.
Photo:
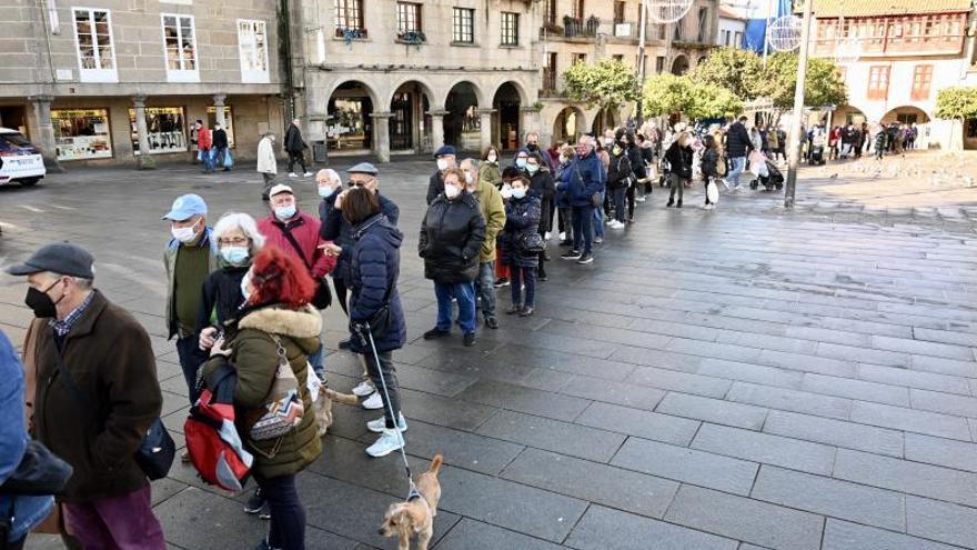
[(594, 210), (601, 208), (606, 173), (595, 153), (594, 139), (581, 136), (571, 164), (563, 170), (560, 186), (567, 194), (573, 221), (573, 249), (560, 258), (591, 263), (593, 254)]

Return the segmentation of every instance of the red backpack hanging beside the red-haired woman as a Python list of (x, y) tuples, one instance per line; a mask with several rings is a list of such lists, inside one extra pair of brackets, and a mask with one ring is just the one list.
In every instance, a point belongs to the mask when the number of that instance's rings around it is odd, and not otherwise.
[(187, 451), (200, 478), (228, 491), (242, 490), (254, 461), (234, 426), (236, 382), (230, 366), (213, 371), (183, 423)]

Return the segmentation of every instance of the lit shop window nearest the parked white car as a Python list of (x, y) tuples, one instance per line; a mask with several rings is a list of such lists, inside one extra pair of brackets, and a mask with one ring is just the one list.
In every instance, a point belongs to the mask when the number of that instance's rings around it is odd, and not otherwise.
[(58, 160), (112, 158), (107, 109), (52, 109)]

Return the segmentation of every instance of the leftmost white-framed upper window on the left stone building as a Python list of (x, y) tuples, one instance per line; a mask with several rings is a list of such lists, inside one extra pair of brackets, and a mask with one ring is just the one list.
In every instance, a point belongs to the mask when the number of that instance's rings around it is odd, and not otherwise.
[(78, 72), (82, 82), (118, 82), (109, 10), (74, 8)]

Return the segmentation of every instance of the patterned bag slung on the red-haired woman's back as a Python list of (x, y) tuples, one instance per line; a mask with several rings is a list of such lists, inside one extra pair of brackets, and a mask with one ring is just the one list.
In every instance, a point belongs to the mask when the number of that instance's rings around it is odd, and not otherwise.
[[(268, 441), (285, 437), (299, 426), (305, 413), (302, 398), (299, 394), (299, 380), (292, 371), (292, 364), (285, 356), (285, 347), (276, 334), (269, 334), (278, 346), (279, 367), (271, 382), (268, 398), (262, 407), (264, 412), (251, 427), (250, 436), (254, 441)], [(308, 376), (308, 373), (306, 373)], [(276, 452), (276, 451), (275, 451)]]

